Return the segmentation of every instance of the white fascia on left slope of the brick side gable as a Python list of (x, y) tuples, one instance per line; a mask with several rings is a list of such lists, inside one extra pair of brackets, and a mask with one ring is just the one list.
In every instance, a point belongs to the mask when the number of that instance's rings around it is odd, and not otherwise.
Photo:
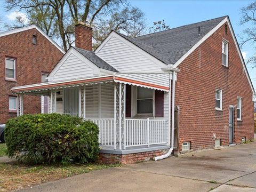
[(188, 50), (187, 53), (183, 54), (183, 56), (174, 63), (173, 67), (178, 67), (178, 65), (180, 65), (180, 63), (185, 60), (188, 55), (190, 55), (190, 53), (192, 53), (193, 51), (195, 51), (195, 49), (201, 45), (208, 37), (210, 37), (217, 29), (219, 29), (225, 22), (228, 21), (228, 18), (226, 17), (225, 19), (223, 19), (217, 26), (215, 26), (212, 30), (210, 30), (203, 38), (201, 38), (193, 47), (190, 48), (190, 50)]

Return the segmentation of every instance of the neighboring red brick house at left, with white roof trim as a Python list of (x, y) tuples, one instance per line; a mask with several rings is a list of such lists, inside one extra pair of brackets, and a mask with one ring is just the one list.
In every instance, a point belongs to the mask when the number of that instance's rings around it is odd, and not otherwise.
[[(0, 33), (0, 124), (17, 116), (17, 95), (11, 88), (41, 83), (64, 53), (35, 25)], [(23, 103), (24, 113), (41, 112), (40, 98), (26, 95)]]

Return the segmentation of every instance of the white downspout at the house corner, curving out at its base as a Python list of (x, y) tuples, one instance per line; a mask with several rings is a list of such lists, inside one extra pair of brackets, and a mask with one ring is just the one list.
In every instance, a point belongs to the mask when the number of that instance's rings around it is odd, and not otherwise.
[[(172, 154), (172, 150), (173, 150), (173, 146), (174, 146), (174, 108), (175, 108), (175, 71), (172, 71), (172, 130), (171, 130), (171, 148), (169, 149), (169, 151), (161, 156), (158, 157), (154, 157), (154, 160), (161, 160), (164, 158), (169, 157)], [(169, 91), (169, 103), (171, 103), (171, 79), (170, 79), (170, 91)], [(171, 108), (169, 107), (169, 125), (170, 125), (170, 114), (171, 114)]]

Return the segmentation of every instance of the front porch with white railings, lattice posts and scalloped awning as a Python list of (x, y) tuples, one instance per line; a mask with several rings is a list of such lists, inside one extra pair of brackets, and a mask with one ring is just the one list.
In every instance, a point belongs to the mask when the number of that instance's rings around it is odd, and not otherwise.
[(80, 116), (97, 124), (101, 153), (122, 155), (170, 148), (169, 87), (107, 78), (45, 84), (16, 92), (18, 115), (23, 115), (24, 94), (43, 95), (48, 97), (49, 113)]

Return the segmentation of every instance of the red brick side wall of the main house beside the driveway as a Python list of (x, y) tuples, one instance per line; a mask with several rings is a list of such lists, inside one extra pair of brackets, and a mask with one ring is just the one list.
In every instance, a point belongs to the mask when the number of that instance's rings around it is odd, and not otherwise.
[[(228, 68), (222, 66), (222, 38), (229, 42)], [(230, 29), (225, 25), (206, 39), (179, 66), (175, 105), (180, 106), (179, 149), (190, 141), (191, 149), (212, 148), (216, 134), (228, 145), (229, 105), (242, 97), (242, 121), (236, 121), (236, 143), (253, 139), (252, 90)], [(222, 90), (222, 111), (215, 110), (215, 89)]]

